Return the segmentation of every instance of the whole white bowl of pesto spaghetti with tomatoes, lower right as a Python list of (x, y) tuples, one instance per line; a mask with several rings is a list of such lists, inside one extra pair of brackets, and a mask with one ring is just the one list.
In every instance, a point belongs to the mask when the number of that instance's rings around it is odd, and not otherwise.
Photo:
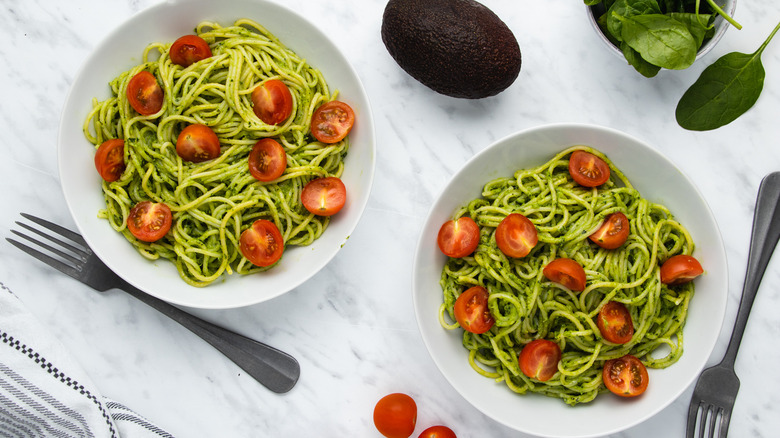
[[(606, 183), (597, 178), (599, 166), (572, 158), (577, 150), (611, 164)], [(569, 162), (580, 163), (573, 173)], [(581, 182), (595, 188), (575, 180), (580, 171), (590, 178)], [(597, 231), (620, 212), (630, 234), (607, 244)], [(525, 222), (505, 220), (513, 215), (527, 219), (534, 238)], [(468, 220), (454, 231), (444, 227), (462, 217), (477, 224), (478, 243), (452, 240), (469, 234)], [(661, 266), (678, 253), (704, 272), (666, 284), (675, 276)], [(556, 259), (582, 266), (584, 283), (573, 268), (552, 269), (548, 277), (545, 268)], [(596, 437), (648, 419), (692, 384), (720, 333), (726, 276), (712, 213), (672, 162), (613, 129), (554, 124), (497, 141), (445, 186), (416, 248), (413, 300), (431, 357), (478, 410), (532, 435)], [(607, 318), (602, 328), (601, 309), (616, 306), (610, 302), (623, 305), (629, 323)], [(609, 333), (627, 324), (633, 331)], [(606, 377), (604, 368), (612, 371)], [(621, 380), (621, 369), (636, 371), (635, 384)]]

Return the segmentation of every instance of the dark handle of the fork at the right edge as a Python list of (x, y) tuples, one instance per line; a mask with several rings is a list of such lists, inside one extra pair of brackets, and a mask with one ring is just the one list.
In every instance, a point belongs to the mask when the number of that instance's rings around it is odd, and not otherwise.
[(739, 303), (734, 330), (722, 363), (733, 366), (736, 361), (750, 309), (753, 307), (758, 286), (761, 284), (778, 238), (780, 238), (780, 172), (773, 172), (764, 177), (758, 188), (742, 300)]

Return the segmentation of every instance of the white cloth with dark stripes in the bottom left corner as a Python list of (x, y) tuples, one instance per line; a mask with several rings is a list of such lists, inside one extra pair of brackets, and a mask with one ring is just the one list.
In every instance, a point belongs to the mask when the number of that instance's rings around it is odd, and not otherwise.
[(85, 371), (0, 283), (0, 437), (171, 437), (100, 395)]

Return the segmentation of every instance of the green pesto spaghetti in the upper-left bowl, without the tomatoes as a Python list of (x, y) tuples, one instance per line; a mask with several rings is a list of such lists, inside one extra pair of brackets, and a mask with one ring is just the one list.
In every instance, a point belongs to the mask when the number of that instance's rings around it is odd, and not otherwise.
[[(285, 246), (309, 245), (329, 218), (309, 213), (301, 191), (312, 179), (338, 177), (349, 148), (348, 137), (334, 144), (310, 134), (314, 110), (335, 98), (322, 74), (250, 20), (229, 27), (200, 23), (195, 33), (212, 51), (210, 58), (182, 67), (171, 62), (170, 43), (154, 43), (141, 64), (110, 82), (112, 97), (98, 102), (84, 123), (96, 145), (124, 139), (126, 168), (115, 182), (103, 182), (106, 208), (99, 215), (149, 259), (171, 260), (181, 277), (206, 286), (223, 274), (261, 268), (244, 258), (239, 237), (257, 219), (278, 227)], [(140, 71), (151, 72), (164, 92), (161, 115), (141, 116), (128, 103), (126, 89)], [(293, 97), (292, 114), (278, 125), (263, 123), (253, 112), (251, 93), (261, 82), (278, 79)], [(176, 153), (178, 134), (189, 124), (205, 124), (219, 137), (221, 153), (201, 163)], [(247, 157), (261, 138), (284, 148), (287, 168), (270, 183), (249, 173)], [(167, 204), (173, 226), (153, 243), (128, 231), (127, 218), (137, 202)]]

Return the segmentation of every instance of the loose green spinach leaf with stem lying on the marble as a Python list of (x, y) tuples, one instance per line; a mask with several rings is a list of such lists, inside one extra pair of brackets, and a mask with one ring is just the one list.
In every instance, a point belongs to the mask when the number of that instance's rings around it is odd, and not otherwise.
[(677, 123), (688, 130), (709, 131), (733, 122), (752, 108), (766, 76), (761, 54), (778, 29), (780, 23), (754, 53), (727, 53), (704, 69), (677, 103)]

